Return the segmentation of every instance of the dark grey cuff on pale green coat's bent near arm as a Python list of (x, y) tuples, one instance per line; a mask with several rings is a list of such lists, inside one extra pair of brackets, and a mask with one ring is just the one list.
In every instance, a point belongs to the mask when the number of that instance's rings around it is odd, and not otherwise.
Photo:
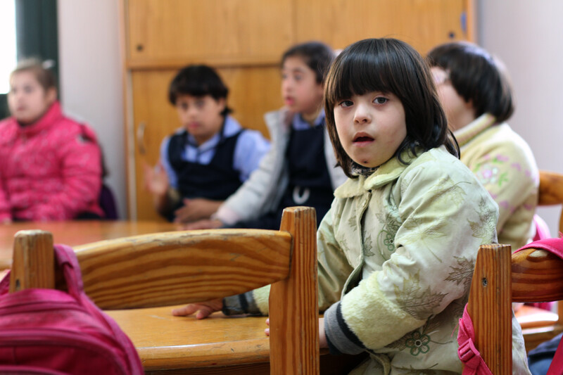
[(362, 341), (344, 321), (340, 302), (324, 312), (324, 333), (331, 354), (360, 354), (365, 350)]

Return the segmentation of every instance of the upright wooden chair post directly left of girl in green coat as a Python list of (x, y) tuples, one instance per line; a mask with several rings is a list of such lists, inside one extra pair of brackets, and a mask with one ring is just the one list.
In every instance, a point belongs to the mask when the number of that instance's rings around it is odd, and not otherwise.
[[(289, 215), (289, 213), (293, 215)], [(271, 374), (319, 374), (317, 220), (315, 210), (286, 208), (281, 231), (293, 236), (289, 278), (270, 289)]]

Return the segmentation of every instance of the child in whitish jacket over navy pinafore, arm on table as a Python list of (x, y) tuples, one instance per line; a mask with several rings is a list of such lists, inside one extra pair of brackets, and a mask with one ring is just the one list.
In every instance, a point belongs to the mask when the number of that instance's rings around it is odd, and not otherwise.
[(321, 42), (292, 46), (281, 57), (285, 107), (266, 113), (272, 149), (250, 179), (213, 215), (186, 229), (279, 229), (281, 212), (295, 205), (317, 210), (320, 222), (346, 176), (331, 149), (322, 109), (324, 74), (334, 51)]

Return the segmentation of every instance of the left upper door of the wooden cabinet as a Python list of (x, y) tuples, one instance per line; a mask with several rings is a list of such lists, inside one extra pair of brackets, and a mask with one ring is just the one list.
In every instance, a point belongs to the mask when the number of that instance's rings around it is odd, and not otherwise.
[(134, 61), (277, 61), (294, 39), (293, 1), (128, 0)]

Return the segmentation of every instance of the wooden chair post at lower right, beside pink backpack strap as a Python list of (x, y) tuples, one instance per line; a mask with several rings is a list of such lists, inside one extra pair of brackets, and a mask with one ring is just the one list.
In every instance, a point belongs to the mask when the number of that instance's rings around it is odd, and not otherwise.
[(512, 374), (510, 257), (510, 245), (479, 248), (467, 303), (475, 346), (495, 375)]

